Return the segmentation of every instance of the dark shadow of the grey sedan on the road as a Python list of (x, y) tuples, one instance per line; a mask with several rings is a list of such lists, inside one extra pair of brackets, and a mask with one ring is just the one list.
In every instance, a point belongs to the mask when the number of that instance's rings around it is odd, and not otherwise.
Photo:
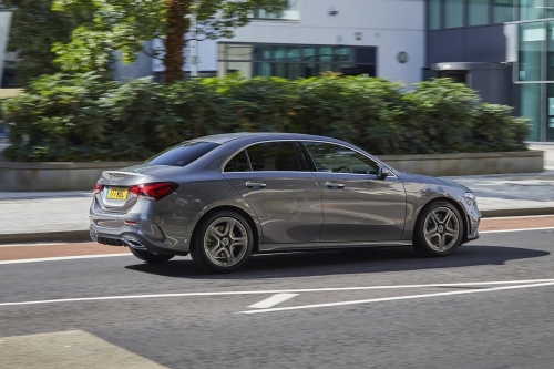
[(136, 264), (127, 269), (153, 275), (193, 279), (259, 279), (387, 273), (504, 265), (516, 259), (536, 258), (548, 252), (506, 246), (463, 246), (448, 257), (421, 257), (411, 247), (355, 248), (341, 250), (255, 255), (233, 274), (212, 275), (192, 260), (165, 264)]

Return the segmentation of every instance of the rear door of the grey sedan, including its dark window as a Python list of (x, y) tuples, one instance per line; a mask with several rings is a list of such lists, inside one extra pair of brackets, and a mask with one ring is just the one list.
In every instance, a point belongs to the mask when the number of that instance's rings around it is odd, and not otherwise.
[(223, 174), (256, 213), (261, 244), (319, 242), (321, 191), (298, 143), (250, 145), (226, 164)]

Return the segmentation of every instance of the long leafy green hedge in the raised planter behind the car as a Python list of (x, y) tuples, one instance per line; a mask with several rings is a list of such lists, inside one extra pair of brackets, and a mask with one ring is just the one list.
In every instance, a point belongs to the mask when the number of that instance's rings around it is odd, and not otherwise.
[(202, 79), (170, 85), (50, 75), (2, 104), (12, 161), (143, 160), (223, 132), (334, 136), (373, 154), (526, 150), (527, 121), (451, 80), (413, 86), (356, 76)]

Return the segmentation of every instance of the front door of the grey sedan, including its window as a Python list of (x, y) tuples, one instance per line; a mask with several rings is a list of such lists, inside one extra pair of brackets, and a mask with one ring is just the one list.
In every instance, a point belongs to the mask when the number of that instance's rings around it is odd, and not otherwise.
[(342, 145), (304, 142), (322, 194), (321, 243), (400, 240), (406, 192), (400, 180), (378, 177), (379, 165)]

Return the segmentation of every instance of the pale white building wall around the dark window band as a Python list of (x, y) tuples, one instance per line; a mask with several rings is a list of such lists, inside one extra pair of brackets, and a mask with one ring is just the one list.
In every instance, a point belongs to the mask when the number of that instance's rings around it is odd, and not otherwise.
[[(330, 16), (331, 8), (338, 14)], [(300, 9), (299, 21), (253, 20), (233, 39), (222, 41), (377, 47), (378, 76), (408, 83), (421, 80), (424, 0), (301, 0)], [(357, 32), (361, 40), (356, 40)], [(216, 51), (215, 44), (209, 48)], [(201, 49), (201, 61), (212, 58), (205, 50)], [(401, 51), (409, 55), (404, 64), (397, 61)]]

